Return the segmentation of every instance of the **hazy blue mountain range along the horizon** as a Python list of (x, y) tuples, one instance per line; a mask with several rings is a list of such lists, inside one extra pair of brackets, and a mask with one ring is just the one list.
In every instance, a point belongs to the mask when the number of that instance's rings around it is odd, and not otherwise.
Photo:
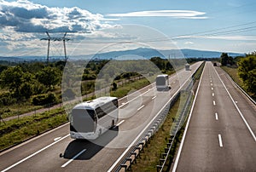
[[(129, 49), (121, 51), (111, 51), (108, 53), (99, 53), (99, 54), (81, 54), (81, 55), (71, 55), (69, 59), (71, 60), (84, 60), (84, 59), (99, 59), (99, 60), (109, 60), (109, 59), (150, 59), (152, 57), (161, 57), (161, 58), (218, 58), (223, 52), (218, 51), (207, 51), (207, 50), (196, 50), (196, 49), (171, 49), (171, 50), (157, 50), (157, 49), (148, 49), (148, 48), (138, 48), (138, 49)], [(245, 54), (228, 53), (232, 57), (244, 56)], [(50, 57), (51, 60), (63, 60), (63, 57)], [(8, 61), (24, 61), (24, 60), (46, 60), (45, 56), (20, 56), (20, 57), (0, 57), (0, 60)]]

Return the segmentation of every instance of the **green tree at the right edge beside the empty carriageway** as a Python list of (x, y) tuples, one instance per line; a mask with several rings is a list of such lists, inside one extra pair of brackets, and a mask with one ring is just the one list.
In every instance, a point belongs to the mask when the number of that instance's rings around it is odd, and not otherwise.
[(247, 86), (247, 90), (256, 95), (256, 55), (248, 55), (246, 58), (238, 62), (238, 75), (243, 83)]

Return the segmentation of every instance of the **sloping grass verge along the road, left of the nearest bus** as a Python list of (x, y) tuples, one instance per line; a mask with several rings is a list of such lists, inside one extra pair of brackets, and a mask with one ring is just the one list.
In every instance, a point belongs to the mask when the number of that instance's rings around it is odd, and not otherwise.
[(19, 144), (35, 135), (40, 135), (46, 130), (67, 122), (67, 115), (63, 109), (39, 113), (20, 119), (1, 122), (0, 125), (0, 150)]

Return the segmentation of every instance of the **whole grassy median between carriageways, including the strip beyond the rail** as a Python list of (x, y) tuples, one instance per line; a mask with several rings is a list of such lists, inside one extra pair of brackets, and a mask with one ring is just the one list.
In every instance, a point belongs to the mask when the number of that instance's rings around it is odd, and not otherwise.
[[(204, 64), (195, 72), (193, 77), (194, 83), (198, 83), (198, 80), (201, 77), (201, 72), (204, 68)], [(197, 84), (195, 84), (197, 88)], [(195, 88), (195, 89), (196, 89)], [(160, 129), (151, 137), (148, 146), (145, 146), (143, 149), (143, 153), (140, 154), (141, 158), (137, 158), (137, 163), (132, 164), (132, 171), (157, 171), (157, 165), (160, 164), (161, 153), (165, 152), (166, 144), (168, 143), (168, 139), (170, 139), (170, 135), (173, 131), (176, 118), (183, 111), (183, 106), (185, 106), (186, 100), (189, 99), (189, 92), (183, 91), (174, 105), (170, 108), (165, 122), (160, 126)], [(190, 101), (189, 107), (187, 111), (185, 111), (184, 119), (181, 128), (177, 131), (176, 137), (173, 140), (171, 154), (167, 159), (166, 166), (163, 171), (169, 171), (172, 165), (172, 161), (177, 153), (178, 146), (183, 137), (184, 126), (186, 124), (192, 100)]]

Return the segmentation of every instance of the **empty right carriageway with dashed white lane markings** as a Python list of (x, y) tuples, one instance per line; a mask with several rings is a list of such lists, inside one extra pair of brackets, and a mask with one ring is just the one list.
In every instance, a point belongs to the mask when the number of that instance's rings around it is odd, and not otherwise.
[(255, 171), (255, 105), (207, 62), (172, 171)]

